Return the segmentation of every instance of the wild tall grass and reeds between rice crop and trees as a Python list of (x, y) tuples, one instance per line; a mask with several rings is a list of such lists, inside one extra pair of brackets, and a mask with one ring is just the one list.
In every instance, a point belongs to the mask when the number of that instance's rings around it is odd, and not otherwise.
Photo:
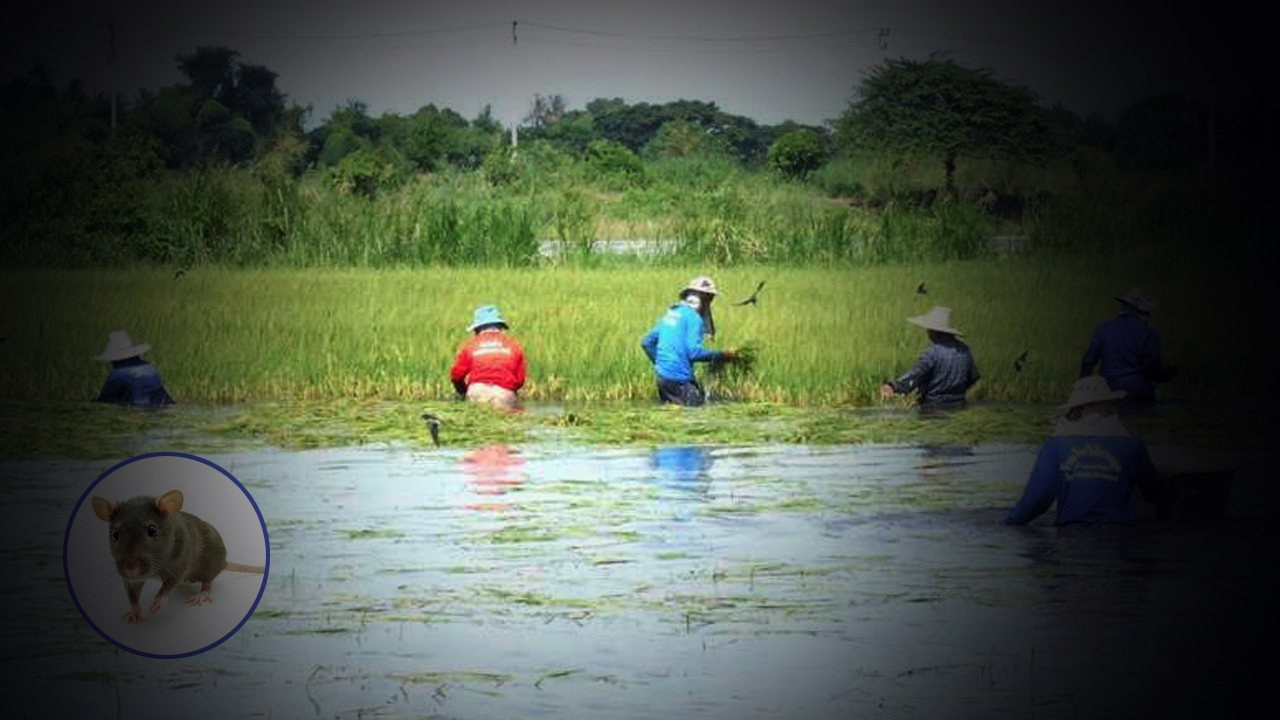
[[(678, 263), (859, 266), (982, 259), (995, 234), (1032, 251), (1117, 255), (1137, 247), (1247, 242), (1257, 191), (1207, 169), (1124, 170), (1080, 151), (1043, 167), (964, 160), (961, 192), (936, 200), (941, 164), (859, 155), (808, 182), (710, 156), (650, 159), (600, 174), (545, 146), (509, 173), (445, 170), (352, 191), (321, 172), (209, 168), (70, 193), (58, 222), (6, 228), (19, 265), (532, 266), (541, 240), (598, 264), (602, 240), (678, 243)], [(105, 182), (105, 181), (104, 181)], [(1015, 210), (1001, 209), (1005, 200)], [(1261, 202), (1260, 202), (1261, 201)], [(36, 215), (44, 218), (44, 215)], [(46, 218), (47, 219), (47, 218)]]

